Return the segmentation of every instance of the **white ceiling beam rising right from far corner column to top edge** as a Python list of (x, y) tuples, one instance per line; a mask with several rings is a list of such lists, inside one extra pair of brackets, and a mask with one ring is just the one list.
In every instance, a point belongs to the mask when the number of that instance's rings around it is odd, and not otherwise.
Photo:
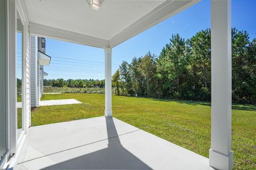
[(178, 12), (185, 10), (191, 5), (198, 3), (200, 0), (194, 1), (166, 1), (162, 5), (155, 8), (143, 18), (134, 22), (132, 25), (118, 33), (116, 36), (109, 40), (109, 47), (113, 48), (127, 39), (130, 39), (139, 33), (153, 27), (157, 23), (177, 14)]

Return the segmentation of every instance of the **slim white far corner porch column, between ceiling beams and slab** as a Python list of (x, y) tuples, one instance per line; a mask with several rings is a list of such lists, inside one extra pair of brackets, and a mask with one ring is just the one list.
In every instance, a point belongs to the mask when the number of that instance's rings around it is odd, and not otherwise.
[(105, 48), (105, 116), (112, 116), (111, 48)]

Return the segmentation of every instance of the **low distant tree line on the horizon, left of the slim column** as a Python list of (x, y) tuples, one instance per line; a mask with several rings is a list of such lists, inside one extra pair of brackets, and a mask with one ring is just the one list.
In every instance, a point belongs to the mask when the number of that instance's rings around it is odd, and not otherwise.
[(105, 80), (82, 80), (82, 79), (44, 79), (44, 86), (71, 87), (71, 88), (103, 88)]

